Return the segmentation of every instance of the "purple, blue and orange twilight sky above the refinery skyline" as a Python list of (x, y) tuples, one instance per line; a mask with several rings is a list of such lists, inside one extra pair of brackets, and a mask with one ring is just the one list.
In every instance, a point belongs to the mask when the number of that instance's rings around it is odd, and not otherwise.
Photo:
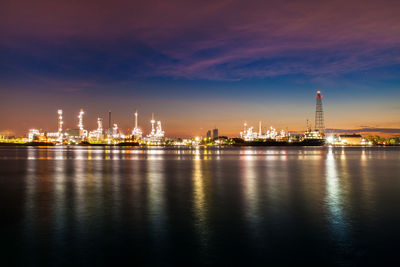
[(400, 135), (400, 1), (0, 2), (0, 131), (96, 118), (169, 137), (303, 131)]

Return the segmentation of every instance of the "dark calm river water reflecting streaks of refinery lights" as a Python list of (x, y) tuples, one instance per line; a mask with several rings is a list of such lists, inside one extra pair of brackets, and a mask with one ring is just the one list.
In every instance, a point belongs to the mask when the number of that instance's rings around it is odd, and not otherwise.
[(397, 265), (400, 148), (0, 147), (6, 265)]

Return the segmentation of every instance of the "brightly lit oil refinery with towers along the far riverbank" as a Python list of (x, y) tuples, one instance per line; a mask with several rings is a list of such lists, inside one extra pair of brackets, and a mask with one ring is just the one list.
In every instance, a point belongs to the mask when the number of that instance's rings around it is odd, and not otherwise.
[(133, 113), (133, 127), (129, 134), (124, 134), (117, 123), (111, 120), (111, 111), (108, 112), (108, 127), (104, 126), (104, 120), (97, 118), (97, 128), (85, 129), (85, 111), (80, 109), (77, 114), (77, 128), (65, 129), (63, 110), (58, 109), (57, 131), (47, 132), (39, 129), (30, 129), (24, 138), (2, 138), (0, 144), (27, 144), (27, 145), (237, 145), (237, 146), (272, 146), (272, 145), (371, 145), (372, 143), (362, 138), (361, 135), (329, 135), (325, 138), (325, 123), (322, 107), (321, 91), (316, 92), (314, 128), (307, 120), (304, 133), (289, 132), (287, 129), (276, 129), (273, 126), (263, 126), (262, 121), (258, 127), (250, 126), (245, 121), (242, 131), (237, 138), (219, 136), (218, 129), (208, 130), (205, 137), (197, 136), (188, 139), (169, 139), (165, 136), (161, 120), (156, 120), (154, 113), (149, 120), (151, 126), (149, 132), (144, 134), (139, 126), (139, 112)]

